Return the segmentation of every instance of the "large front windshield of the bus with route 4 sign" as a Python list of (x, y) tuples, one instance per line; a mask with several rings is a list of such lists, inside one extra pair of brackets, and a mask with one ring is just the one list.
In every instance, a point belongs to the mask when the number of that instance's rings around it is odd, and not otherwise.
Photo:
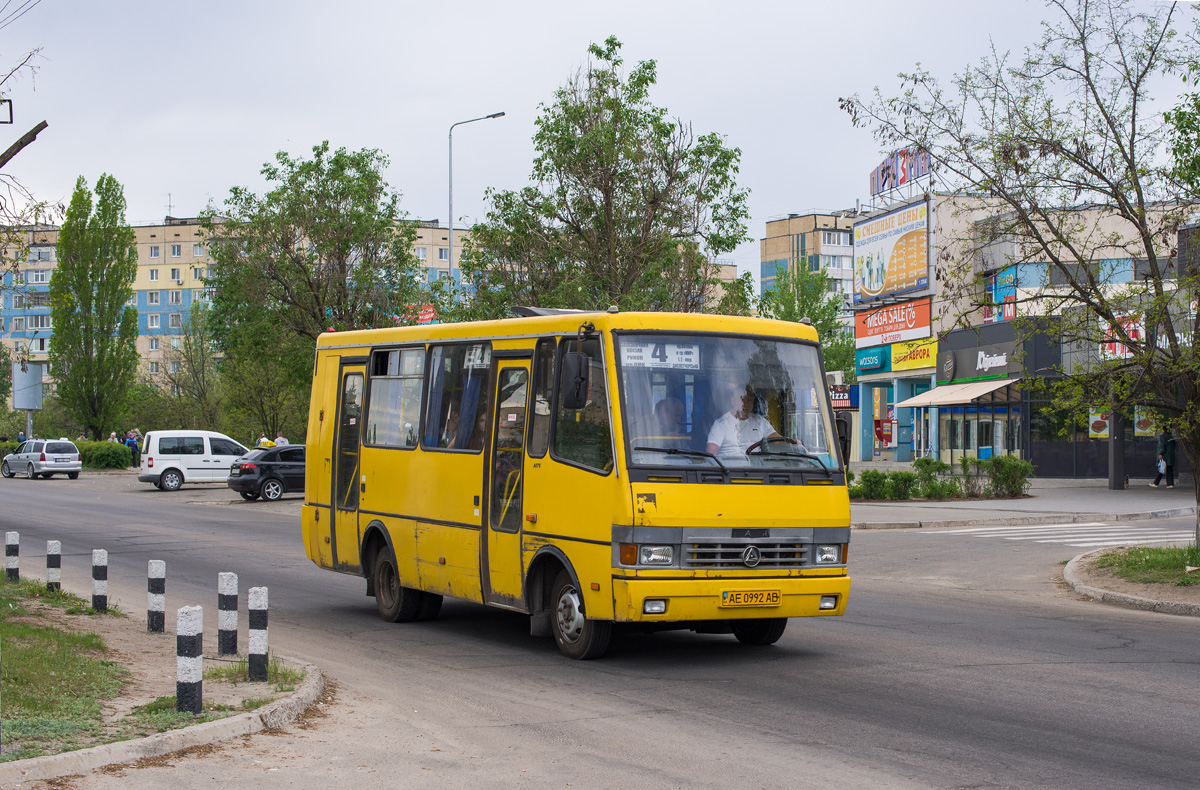
[(630, 463), (841, 468), (816, 346), (624, 333), (616, 341)]

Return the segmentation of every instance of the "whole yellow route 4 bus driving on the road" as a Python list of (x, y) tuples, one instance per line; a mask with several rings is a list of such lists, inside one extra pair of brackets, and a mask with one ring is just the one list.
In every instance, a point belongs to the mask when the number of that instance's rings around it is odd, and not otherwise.
[(304, 543), (389, 622), (443, 596), (588, 659), (614, 623), (779, 640), (842, 615), (850, 499), (816, 333), (522, 309), (317, 341)]

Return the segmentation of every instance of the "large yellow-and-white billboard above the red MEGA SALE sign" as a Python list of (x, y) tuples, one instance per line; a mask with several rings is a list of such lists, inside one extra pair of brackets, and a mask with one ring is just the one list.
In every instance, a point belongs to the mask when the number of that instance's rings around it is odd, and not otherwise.
[(929, 287), (929, 205), (854, 226), (854, 303)]

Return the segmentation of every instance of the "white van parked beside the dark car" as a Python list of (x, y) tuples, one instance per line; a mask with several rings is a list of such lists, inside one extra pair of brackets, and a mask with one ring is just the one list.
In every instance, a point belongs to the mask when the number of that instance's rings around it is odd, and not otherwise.
[(224, 483), (233, 462), (248, 451), (216, 431), (150, 431), (142, 445), (138, 480), (163, 491), (184, 483)]

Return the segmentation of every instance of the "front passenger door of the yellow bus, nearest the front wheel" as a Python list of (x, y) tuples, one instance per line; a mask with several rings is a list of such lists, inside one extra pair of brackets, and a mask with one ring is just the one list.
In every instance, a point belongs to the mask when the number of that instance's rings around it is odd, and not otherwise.
[(496, 414), (487, 459), (487, 539), (481, 558), (484, 600), (523, 608), (521, 527), (524, 508), (524, 425), (529, 363), (497, 360)]

